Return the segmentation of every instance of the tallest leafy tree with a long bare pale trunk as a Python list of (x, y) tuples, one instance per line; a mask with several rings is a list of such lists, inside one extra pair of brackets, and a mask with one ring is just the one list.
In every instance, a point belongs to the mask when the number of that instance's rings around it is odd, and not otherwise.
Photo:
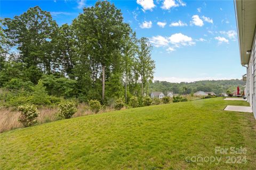
[(98, 1), (95, 7), (84, 8), (84, 13), (78, 16), (75, 23), (76, 29), (85, 33), (81, 36), (84, 36), (83, 44), (90, 56), (100, 63), (103, 101), (106, 67), (114, 60), (116, 50), (121, 49), (122, 39), (129, 34), (129, 25), (123, 22), (121, 11), (107, 1)]

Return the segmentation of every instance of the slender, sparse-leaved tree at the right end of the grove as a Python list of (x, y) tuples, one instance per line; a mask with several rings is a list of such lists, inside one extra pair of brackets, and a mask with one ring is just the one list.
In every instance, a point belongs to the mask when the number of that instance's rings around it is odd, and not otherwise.
[(153, 79), (155, 61), (151, 59), (153, 46), (149, 43), (148, 38), (140, 38), (138, 46), (138, 72), (141, 79), (141, 96), (144, 96), (144, 84), (147, 83), (149, 79)]

